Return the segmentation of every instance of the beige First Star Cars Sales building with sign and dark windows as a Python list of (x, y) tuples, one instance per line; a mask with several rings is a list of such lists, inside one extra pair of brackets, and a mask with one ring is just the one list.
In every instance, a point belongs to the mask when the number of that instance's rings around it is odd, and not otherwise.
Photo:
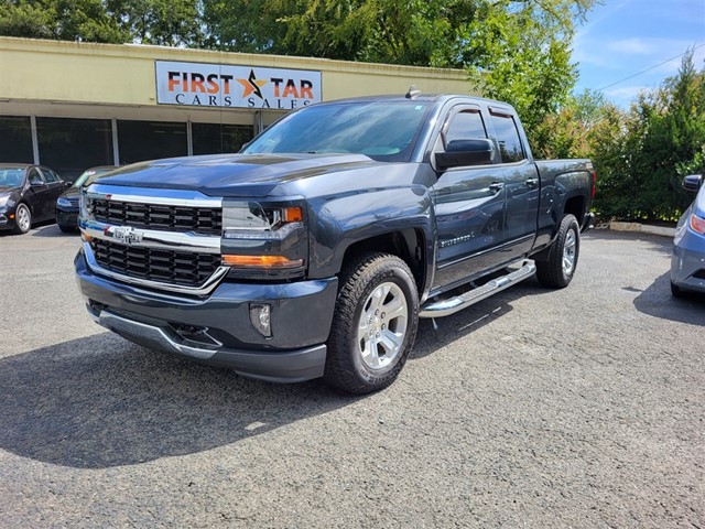
[(468, 94), (457, 69), (0, 37), (0, 162), (95, 165), (237, 152), (285, 112), (346, 97)]

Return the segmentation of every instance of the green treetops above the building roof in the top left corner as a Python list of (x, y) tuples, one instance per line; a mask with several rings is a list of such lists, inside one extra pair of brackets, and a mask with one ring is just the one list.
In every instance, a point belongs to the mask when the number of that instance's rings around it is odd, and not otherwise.
[(0, 35), (108, 43), (129, 40), (100, 0), (0, 0)]

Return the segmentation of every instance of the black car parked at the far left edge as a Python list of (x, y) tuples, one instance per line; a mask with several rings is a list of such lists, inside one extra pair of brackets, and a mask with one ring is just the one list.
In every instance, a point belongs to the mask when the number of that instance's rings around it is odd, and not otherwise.
[(70, 184), (43, 165), (0, 163), (0, 229), (25, 234), (54, 218), (56, 198)]

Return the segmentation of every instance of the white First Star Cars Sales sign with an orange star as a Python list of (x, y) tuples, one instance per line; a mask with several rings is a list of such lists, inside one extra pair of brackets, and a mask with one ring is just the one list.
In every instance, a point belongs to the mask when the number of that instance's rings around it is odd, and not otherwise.
[(291, 110), (321, 101), (321, 72), (156, 61), (156, 102)]

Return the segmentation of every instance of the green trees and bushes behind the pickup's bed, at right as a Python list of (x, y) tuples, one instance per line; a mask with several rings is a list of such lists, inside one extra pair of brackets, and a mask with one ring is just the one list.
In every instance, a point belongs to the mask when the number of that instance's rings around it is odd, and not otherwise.
[(677, 75), (629, 111), (592, 93), (568, 99), (532, 140), (539, 155), (593, 160), (601, 218), (674, 220), (692, 201), (682, 176), (705, 170), (705, 69), (686, 53)]

